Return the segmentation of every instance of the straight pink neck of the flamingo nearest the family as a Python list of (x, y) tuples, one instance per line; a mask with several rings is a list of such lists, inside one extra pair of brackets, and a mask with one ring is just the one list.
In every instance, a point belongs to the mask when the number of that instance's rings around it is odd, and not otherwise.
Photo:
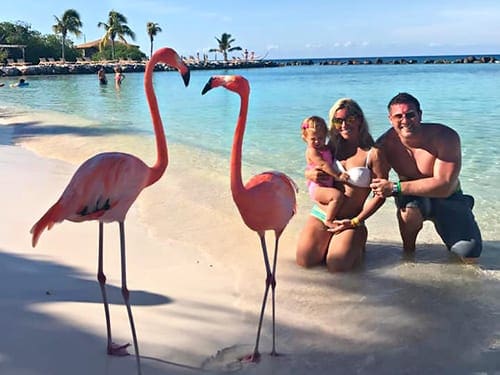
[(243, 134), (245, 133), (245, 126), (247, 122), (248, 113), (248, 95), (240, 95), (240, 114), (236, 122), (236, 129), (234, 131), (233, 148), (231, 151), (231, 191), (233, 198), (236, 200), (240, 194), (245, 191), (243, 186), (243, 179), (241, 177), (241, 156), (243, 148)]

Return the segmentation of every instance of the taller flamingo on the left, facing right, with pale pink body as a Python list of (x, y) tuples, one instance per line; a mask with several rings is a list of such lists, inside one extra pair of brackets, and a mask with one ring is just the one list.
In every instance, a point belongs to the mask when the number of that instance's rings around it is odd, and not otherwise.
[(168, 165), (168, 150), (163, 124), (158, 110), (158, 102), (153, 89), (153, 71), (157, 63), (163, 62), (176, 68), (182, 75), (184, 84), (189, 84), (189, 69), (171, 48), (161, 48), (149, 60), (144, 74), (144, 89), (151, 112), (156, 138), (157, 160), (152, 167), (134, 155), (121, 152), (97, 154), (85, 161), (75, 172), (59, 200), (42, 216), (31, 229), (32, 246), (35, 247), (45, 228), (50, 229), (64, 220), (99, 222), (99, 255), (97, 280), (101, 289), (106, 316), (107, 353), (128, 355), (130, 344), (118, 345), (111, 339), (111, 322), (106, 296), (106, 276), (103, 270), (103, 226), (117, 221), (120, 228), (121, 291), (125, 301), (132, 337), (134, 341), (137, 371), (141, 374), (139, 347), (134, 319), (127, 289), (125, 258), (125, 216), (142, 189), (160, 179)]

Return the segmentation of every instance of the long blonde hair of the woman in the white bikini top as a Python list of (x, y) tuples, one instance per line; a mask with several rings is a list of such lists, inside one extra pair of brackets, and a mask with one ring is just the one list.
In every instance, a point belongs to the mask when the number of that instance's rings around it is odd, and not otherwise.
[(375, 142), (373, 141), (373, 137), (370, 134), (368, 122), (366, 121), (365, 115), (363, 114), (363, 110), (358, 103), (350, 98), (341, 98), (337, 100), (330, 108), (330, 112), (328, 113), (328, 120), (330, 123), (330, 141), (333, 143), (333, 147), (336, 148), (341, 139), (338, 130), (333, 124), (333, 118), (335, 117), (335, 113), (337, 113), (339, 109), (346, 109), (347, 116), (355, 116), (361, 120), (359, 126), (359, 147), (364, 150), (372, 147)]

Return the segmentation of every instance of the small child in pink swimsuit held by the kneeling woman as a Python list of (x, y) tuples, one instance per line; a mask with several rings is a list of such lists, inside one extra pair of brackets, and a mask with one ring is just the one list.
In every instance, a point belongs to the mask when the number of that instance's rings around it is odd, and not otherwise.
[(333, 220), (342, 205), (344, 194), (333, 187), (334, 181), (347, 182), (349, 175), (333, 168), (332, 152), (326, 145), (328, 128), (324, 119), (311, 116), (302, 122), (302, 139), (307, 143), (307, 169), (321, 168), (332, 178), (321, 184), (307, 181), (309, 195), (316, 202), (326, 206), (325, 225), (333, 228)]

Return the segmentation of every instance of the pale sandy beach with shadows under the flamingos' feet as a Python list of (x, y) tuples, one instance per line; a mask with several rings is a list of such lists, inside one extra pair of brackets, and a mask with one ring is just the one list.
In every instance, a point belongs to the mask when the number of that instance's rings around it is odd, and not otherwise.
[[(35, 249), (29, 234), (77, 166), (113, 140), (51, 134), (44, 122), (0, 113), (0, 374), (136, 374), (133, 355), (106, 355), (97, 223), (58, 224)], [(151, 164), (152, 143), (133, 142), (127, 151)], [(125, 223), (144, 374), (500, 374), (498, 241), (485, 242), (478, 266), (465, 266), (426, 227), (416, 255), (404, 258), (392, 202), (369, 220), (364, 264), (347, 274), (295, 265), (308, 210), (299, 206), (280, 242), (281, 355), (268, 355), (269, 305), (262, 359), (242, 364), (264, 289), (258, 237), (241, 221), (228, 177), (211, 174), (210, 158), (186, 163), (194, 156), (180, 147), (170, 155), (165, 176), (143, 192)], [(105, 226), (105, 273), (114, 339), (131, 342), (117, 224)]]

